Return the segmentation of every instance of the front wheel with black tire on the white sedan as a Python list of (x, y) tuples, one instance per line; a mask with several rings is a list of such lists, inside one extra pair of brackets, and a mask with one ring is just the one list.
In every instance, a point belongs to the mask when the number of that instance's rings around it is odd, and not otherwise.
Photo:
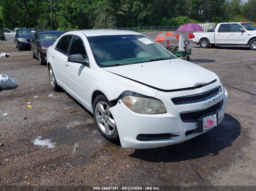
[[(93, 103), (93, 117), (101, 135), (108, 141), (114, 142), (119, 139), (115, 120), (109, 111), (113, 105), (104, 95), (98, 95)], [(101, 117), (102, 116), (102, 117)]]

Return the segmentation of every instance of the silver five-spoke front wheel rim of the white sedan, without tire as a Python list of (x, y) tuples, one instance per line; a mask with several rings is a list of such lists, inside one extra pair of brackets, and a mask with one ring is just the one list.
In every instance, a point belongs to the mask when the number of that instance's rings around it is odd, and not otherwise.
[(105, 135), (112, 135), (115, 131), (115, 120), (109, 108), (108, 103), (104, 101), (99, 101), (95, 107), (96, 121)]

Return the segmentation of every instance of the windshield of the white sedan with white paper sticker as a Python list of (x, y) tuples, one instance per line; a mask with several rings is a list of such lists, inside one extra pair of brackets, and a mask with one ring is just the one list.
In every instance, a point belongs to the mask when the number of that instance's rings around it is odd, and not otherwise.
[(108, 35), (87, 39), (95, 61), (100, 67), (175, 58), (143, 35)]

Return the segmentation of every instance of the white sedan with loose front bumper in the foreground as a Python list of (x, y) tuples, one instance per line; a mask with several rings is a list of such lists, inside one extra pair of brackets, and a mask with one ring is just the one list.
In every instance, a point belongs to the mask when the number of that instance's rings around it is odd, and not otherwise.
[(227, 107), (216, 74), (136, 32), (67, 32), (48, 48), (47, 65), (52, 88), (78, 100), (123, 148), (186, 141), (217, 126)]

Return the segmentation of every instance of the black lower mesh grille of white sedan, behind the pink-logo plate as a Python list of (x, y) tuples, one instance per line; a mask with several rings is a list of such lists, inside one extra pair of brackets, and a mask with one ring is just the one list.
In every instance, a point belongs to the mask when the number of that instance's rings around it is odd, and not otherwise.
[(215, 105), (208, 107), (204, 110), (180, 113), (181, 120), (185, 123), (198, 122), (199, 117), (210, 112), (218, 111), (219, 109), (221, 109), (222, 105), (223, 105), (223, 101), (220, 101)]

